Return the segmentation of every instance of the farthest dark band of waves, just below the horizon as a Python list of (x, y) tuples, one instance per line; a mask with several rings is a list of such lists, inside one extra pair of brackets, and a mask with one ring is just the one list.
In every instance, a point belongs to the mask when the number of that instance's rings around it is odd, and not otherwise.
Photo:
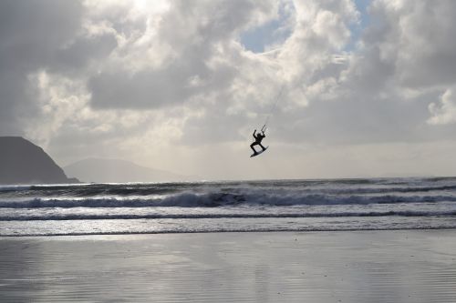
[[(444, 179), (447, 181), (447, 179)], [(409, 183), (406, 183), (409, 182)], [(295, 181), (245, 181), (245, 182), (194, 182), (159, 184), (88, 184), (55, 186), (5, 186), (0, 187), (3, 197), (151, 197), (179, 194), (227, 194), (254, 196), (267, 193), (277, 196), (303, 195), (368, 195), (407, 194), (430, 192), (454, 192), (456, 184), (435, 182), (414, 182), (403, 180), (375, 181), (364, 179), (347, 180), (295, 180)]]

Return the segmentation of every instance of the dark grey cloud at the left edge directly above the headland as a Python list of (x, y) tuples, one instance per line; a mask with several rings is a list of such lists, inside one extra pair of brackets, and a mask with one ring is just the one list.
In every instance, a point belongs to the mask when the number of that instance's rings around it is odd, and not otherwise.
[(28, 75), (53, 64), (82, 11), (77, 1), (0, 2), (0, 135), (24, 134), (23, 122), (39, 111)]

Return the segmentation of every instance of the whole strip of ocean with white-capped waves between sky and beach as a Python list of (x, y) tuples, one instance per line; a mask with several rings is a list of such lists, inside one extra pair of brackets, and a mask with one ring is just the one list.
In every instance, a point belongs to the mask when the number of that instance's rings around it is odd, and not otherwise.
[(456, 177), (0, 186), (0, 236), (456, 228)]

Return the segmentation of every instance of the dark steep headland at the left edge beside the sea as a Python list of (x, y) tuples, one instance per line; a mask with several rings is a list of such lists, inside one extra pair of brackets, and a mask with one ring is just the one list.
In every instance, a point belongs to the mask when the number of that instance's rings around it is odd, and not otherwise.
[(0, 184), (78, 183), (40, 146), (20, 136), (0, 136)]

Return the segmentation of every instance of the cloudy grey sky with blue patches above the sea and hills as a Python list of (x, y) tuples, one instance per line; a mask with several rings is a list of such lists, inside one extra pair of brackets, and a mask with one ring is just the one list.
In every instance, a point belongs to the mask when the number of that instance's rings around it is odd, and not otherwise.
[(4, 0), (0, 136), (203, 179), (454, 176), (455, 20), (452, 0)]

